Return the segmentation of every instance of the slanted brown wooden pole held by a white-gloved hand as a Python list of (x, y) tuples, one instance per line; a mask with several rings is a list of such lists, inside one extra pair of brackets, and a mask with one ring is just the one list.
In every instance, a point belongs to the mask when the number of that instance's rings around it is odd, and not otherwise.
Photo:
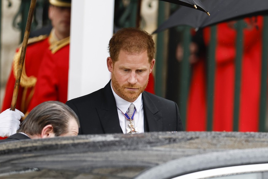
[(20, 86), (20, 82), (21, 82), (21, 73), (22, 73), (22, 69), (23, 69), (23, 64), (24, 64), (29, 34), (30, 34), (30, 30), (31, 30), (31, 24), (32, 24), (32, 20), (33, 20), (33, 12), (34, 12), (35, 5), (36, 5), (36, 0), (31, 0), (29, 14), (28, 14), (28, 18), (27, 18), (26, 27), (25, 27), (24, 38), (23, 38), (22, 47), (21, 47), (21, 55), (20, 55), (20, 61), (19, 61), (19, 65), (18, 65), (18, 71), (17, 71), (16, 81), (15, 81), (14, 91), (13, 91), (13, 97), (12, 97), (11, 106), (10, 106), (10, 109), (12, 111), (14, 111), (16, 108), (18, 91), (19, 91), (19, 86)]

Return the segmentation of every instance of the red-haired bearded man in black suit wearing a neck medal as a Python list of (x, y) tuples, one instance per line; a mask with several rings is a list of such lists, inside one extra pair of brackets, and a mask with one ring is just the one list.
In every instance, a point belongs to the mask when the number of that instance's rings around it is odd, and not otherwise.
[(109, 53), (110, 82), (66, 102), (79, 117), (79, 134), (183, 130), (177, 104), (144, 91), (155, 64), (152, 36), (123, 28), (111, 38)]

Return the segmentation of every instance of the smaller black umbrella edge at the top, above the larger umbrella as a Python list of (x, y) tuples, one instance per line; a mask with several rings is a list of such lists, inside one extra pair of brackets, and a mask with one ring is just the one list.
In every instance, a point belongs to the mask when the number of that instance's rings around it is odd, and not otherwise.
[(194, 9), (201, 10), (210, 15), (208, 10), (205, 8), (205, 6), (200, 0), (161, 0), (161, 1), (171, 2), (186, 7), (192, 7)]

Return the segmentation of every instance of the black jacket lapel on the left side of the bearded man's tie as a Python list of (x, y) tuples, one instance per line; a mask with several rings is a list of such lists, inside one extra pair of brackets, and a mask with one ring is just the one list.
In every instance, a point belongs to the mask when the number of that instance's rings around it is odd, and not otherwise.
[(122, 133), (115, 102), (111, 89), (111, 80), (103, 88), (101, 109), (97, 109), (104, 133)]

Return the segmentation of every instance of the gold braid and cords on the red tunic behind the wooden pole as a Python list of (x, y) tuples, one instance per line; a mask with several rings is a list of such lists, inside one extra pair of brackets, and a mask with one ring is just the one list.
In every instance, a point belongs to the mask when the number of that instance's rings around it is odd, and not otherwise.
[[(28, 44), (41, 41), (45, 38), (47, 38), (47, 35), (40, 35), (38, 37), (29, 38)], [(15, 79), (17, 78), (17, 70), (18, 70), (18, 64), (20, 61), (20, 56), (21, 56), (21, 47), (15, 53), (14, 58), (13, 58), (13, 74), (14, 74)], [(23, 112), (23, 113), (26, 112), (25, 108), (29, 105), (29, 102), (33, 97), (34, 88), (32, 88), (32, 90), (29, 94), (29, 97), (26, 99), (27, 90), (28, 90), (28, 88), (34, 87), (36, 82), (37, 82), (36, 77), (34, 77), (34, 76), (28, 77), (27, 76), (27, 74), (25, 72), (25, 62), (24, 62), (22, 73), (21, 73), (21, 81), (20, 81), (20, 86), (24, 87), (23, 92), (22, 92), (22, 98), (21, 98), (21, 112)]]

